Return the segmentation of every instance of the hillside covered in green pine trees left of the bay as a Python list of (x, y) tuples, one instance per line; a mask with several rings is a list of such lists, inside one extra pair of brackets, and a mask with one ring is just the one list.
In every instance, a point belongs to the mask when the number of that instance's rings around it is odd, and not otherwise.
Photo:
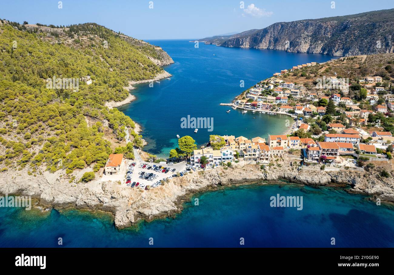
[[(128, 81), (162, 72), (150, 58), (163, 54), (126, 38), (93, 23), (47, 28), (1, 20), (1, 171), (98, 171), (116, 147), (112, 141), (125, 144), (126, 126), (134, 145), (142, 145), (132, 119), (104, 104), (127, 98)], [(54, 77), (78, 79), (78, 89), (48, 88), (46, 79)], [(134, 158), (132, 144), (116, 151)]]

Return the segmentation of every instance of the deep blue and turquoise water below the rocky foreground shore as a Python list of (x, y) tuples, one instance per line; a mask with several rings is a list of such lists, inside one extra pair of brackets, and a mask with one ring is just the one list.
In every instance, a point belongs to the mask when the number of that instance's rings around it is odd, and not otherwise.
[[(303, 210), (273, 208), (270, 197), (303, 196)], [(251, 185), (197, 196), (175, 219), (117, 230), (109, 216), (0, 208), (2, 247), (393, 247), (394, 212), (333, 188)]]

